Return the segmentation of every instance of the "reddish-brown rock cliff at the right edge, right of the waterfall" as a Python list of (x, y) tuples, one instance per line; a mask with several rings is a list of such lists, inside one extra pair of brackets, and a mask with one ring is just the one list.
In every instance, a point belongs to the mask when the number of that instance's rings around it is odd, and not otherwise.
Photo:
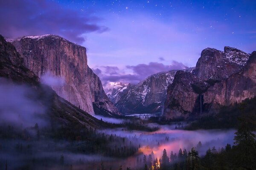
[(241, 71), (210, 87), (204, 96), (205, 103), (219, 105), (240, 103), (256, 96), (256, 51)]

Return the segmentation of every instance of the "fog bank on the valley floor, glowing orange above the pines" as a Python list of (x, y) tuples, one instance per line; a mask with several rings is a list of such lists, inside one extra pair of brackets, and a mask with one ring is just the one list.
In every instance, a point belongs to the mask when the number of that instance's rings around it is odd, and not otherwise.
[(158, 125), (160, 130), (154, 132), (144, 132), (136, 130), (111, 129), (102, 130), (104, 133), (116, 134), (117, 136), (128, 138), (132, 144), (139, 148), (143, 154), (151, 154), (160, 158), (163, 149), (170, 154), (171, 151), (178, 153), (181, 148), (190, 150), (197, 147), (199, 141), (202, 147), (197, 148), (198, 153), (204, 156), (207, 149), (215, 147), (217, 150), (225, 147), (227, 143), (233, 144), (235, 130), (175, 130), (173, 126)]

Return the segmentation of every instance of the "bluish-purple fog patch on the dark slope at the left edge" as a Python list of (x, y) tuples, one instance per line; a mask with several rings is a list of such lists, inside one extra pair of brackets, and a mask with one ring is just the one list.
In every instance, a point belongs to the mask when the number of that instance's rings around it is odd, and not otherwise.
[(16, 85), (0, 78), (0, 123), (34, 126), (36, 123), (46, 125), (44, 119), (46, 108), (36, 99), (34, 89), (26, 85)]

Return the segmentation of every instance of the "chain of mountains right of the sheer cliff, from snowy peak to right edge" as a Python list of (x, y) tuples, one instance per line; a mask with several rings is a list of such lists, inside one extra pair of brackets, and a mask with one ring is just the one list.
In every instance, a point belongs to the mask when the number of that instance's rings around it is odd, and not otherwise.
[(195, 68), (154, 74), (129, 88), (112, 83), (118, 88), (107, 94), (121, 113), (163, 112), (167, 119), (214, 114), (221, 105), (256, 96), (254, 55), (206, 48)]

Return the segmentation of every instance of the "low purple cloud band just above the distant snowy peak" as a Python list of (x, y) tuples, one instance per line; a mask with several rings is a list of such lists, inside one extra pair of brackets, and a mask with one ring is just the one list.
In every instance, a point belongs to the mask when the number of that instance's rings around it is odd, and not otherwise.
[[(124, 82), (137, 84), (146, 77), (163, 71), (183, 70), (187, 68), (183, 63), (172, 61), (171, 65), (164, 65), (159, 62), (149, 62), (148, 64), (126, 65), (124, 69), (116, 66), (100, 66), (93, 69), (105, 85), (107, 82)], [(131, 73), (127, 73), (127, 72)]]

